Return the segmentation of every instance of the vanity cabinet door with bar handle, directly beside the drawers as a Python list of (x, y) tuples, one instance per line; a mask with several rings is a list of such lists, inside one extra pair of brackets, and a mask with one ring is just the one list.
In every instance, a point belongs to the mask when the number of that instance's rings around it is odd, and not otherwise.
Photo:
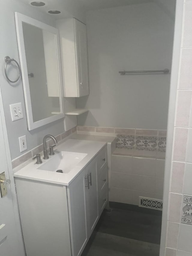
[[(98, 185), (97, 185), (97, 157), (86, 167), (86, 214), (87, 214), (87, 233), (88, 237), (93, 232), (95, 225), (98, 221)], [(87, 177), (87, 179), (86, 179)], [(89, 187), (87, 187), (89, 182)]]

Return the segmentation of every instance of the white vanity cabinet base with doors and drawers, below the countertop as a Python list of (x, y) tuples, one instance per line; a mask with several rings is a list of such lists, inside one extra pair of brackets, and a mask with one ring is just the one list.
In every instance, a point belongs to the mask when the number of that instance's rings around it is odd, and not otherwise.
[(107, 146), (68, 186), (15, 177), (27, 256), (81, 255), (108, 200), (103, 155)]

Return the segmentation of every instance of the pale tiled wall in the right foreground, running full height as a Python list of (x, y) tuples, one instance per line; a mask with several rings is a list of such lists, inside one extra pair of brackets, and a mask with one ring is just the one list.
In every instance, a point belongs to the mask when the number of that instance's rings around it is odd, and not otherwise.
[(192, 1), (185, 0), (166, 256), (192, 256)]

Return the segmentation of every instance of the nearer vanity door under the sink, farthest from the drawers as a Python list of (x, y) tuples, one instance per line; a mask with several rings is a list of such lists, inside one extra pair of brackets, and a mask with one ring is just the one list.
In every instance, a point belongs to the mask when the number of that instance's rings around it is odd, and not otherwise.
[(73, 256), (80, 255), (87, 242), (84, 177), (85, 170), (69, 185), (67, 191)]

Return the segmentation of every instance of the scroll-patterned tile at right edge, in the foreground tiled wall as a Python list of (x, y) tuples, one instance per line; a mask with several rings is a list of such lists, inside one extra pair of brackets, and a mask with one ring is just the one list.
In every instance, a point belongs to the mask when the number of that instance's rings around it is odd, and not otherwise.
[(192, 196), (183, 195), (181, 223), (192, 225)]

